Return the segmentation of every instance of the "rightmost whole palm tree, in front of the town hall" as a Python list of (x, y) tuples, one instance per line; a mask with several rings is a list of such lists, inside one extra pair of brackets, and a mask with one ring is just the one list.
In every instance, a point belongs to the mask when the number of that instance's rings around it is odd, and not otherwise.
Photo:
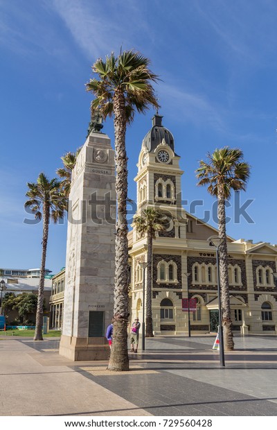
[(233, 351), (233, 333), (228, 279), (227, 239), (225, 202), (231, 197), (231, 191), (245, 191), (250, 175), (250, 166), (243, 161), (240, 149), (225, 146), (208, 153), (208, 162), (201, 160), (197, 169), (197, 185), (208, 185), (208, 192), (217, 197), (217, 219), (219, 236), (223, 239), (219, 249), (220, 283), (222, 289), (222, 325), (224, 345), (227, 351)]

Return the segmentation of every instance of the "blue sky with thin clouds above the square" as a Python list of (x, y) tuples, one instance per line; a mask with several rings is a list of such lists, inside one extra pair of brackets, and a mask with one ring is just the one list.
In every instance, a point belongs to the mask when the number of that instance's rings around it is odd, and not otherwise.
[[(233, 216), (235, 239), (277, 243), (277, 3), (270, 0), (0, 0), (0, 267), (40, 266), (42, 224), (24, 218), (26, 182), (55, 176), (60, 157), (84, 143), (91, 65), (111, 51), (136, 49), (151, 59), (163, 124), (184, 170), (183, 199), (213, 205), (196, 186), (206, 153), (239, 147), (251, 164), (241, 204), (253, 223)], [(153, 111), (127, 130), (129, 197), (141, 141)], [(113, 123), (105, 123), (114, 142)], [(186, 209), (189, 209), (186, 206)], [(211, 220), (211, 224), (213, 220)], [(51, 225), (46, 266), (65, 264), (66, 223)]]

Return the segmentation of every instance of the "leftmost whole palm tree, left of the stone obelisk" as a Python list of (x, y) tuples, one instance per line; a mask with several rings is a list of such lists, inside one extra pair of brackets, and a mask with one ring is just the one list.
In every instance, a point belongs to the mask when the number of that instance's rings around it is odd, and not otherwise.
[(44, 302), (44, 275), (46, 262), (46, 249), (48, 243), (48, 228), (50, 219), (57, 223), (64, 216), (67, 209), (67, 198), (62, 193), (60, 182), (52, 179), (48, 180), (44, 173), (39, 173), (37, 182), (28, 182), (26, 196), (28, 200), (25, 207), (35, 214), (36, 219), (43, 219), (42, 234), (42, 262), (40, 266), (39, 291), (37, 297), (37, 313), (34, 341), (43, 341), (42, 337), (42, 316)]

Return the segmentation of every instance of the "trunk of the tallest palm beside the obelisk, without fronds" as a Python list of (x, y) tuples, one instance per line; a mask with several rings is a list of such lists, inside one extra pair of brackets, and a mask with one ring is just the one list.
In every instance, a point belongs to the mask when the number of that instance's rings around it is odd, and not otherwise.
[(114, 94), (114, 130), (116, 150), (116, 261), (114, 279), (114, 332), (108, 370), (129, 370), (127, 350), (128, 322), (128, 242), (127, 242), (127, 154), (125, 99), (120, 89)]

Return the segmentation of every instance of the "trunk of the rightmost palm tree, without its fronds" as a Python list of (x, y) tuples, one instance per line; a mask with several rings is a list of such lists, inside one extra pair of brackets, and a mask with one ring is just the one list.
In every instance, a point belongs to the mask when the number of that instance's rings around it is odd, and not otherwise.
[(218, 230), (220, 237), (223, 239), (219, 249), (220, 257), (220, 285), (222, 293), (222, 325), (224, 336), (224, 348), (226, 351), (233, 351), (233, 333), (231, 321), (230, 293), (229, 293), (229, 278), (228, 278), (228, 251), (226, 238), (226, 214), (225, 214), (225, 199), (222, 192), (218, 191)]

